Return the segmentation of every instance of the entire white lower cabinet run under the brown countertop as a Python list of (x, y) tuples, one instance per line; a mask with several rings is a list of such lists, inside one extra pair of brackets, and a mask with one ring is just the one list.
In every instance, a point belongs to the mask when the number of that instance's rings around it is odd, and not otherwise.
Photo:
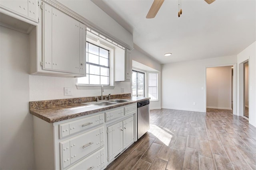
[(136, 141), (136, 106), (55, 123), (33, 116), (35, 169), (103, 170)]

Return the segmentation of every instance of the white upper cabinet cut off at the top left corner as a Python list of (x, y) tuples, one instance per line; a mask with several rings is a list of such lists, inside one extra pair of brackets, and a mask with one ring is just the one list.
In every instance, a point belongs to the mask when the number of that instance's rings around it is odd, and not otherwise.
[(38, 0), (0, 0), (0, 7), (38, 22)]

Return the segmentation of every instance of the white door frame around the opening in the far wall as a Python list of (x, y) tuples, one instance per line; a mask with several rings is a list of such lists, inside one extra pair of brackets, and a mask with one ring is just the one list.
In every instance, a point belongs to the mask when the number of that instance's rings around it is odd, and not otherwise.
[(206, 112), (206, 69), (211, 67), (221, 67), (221, 66), (233, 66), (233, 115), (236, 115), (236, 94), (237, 94), (237, 64), (220, 64), (220, 65), (211, 65), (211, 66), (205, 66), (204, 68), (204, 112)]

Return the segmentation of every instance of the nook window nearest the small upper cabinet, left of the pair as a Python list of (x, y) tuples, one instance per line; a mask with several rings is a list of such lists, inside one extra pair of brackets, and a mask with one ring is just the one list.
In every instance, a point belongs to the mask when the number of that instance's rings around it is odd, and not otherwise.
[(132, 96), (145, 96), (144, 73), (132, 70)]

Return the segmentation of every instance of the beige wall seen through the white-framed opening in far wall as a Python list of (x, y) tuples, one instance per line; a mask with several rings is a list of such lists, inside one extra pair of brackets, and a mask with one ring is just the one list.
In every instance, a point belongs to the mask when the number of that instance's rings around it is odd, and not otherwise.
[(206, 107), (232, 109), (232, 68), (231, 66), (206, 69)]

